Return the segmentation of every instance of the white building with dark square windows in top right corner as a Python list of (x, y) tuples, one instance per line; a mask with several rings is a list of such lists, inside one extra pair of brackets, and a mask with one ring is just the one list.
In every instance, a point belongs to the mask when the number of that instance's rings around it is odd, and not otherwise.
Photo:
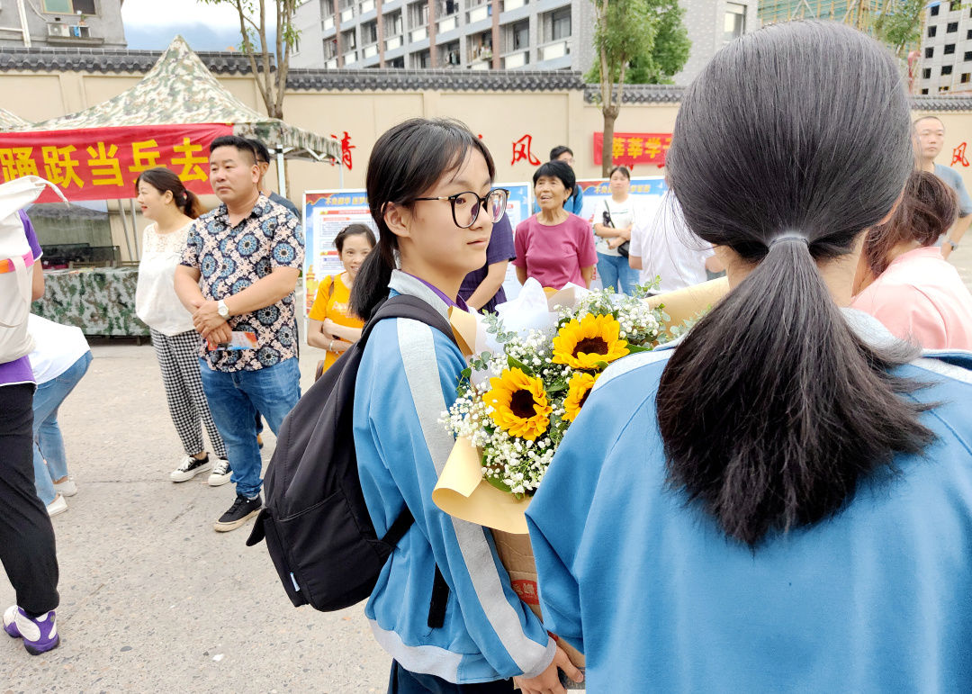
[(934, 95), (972, 91), (972, 9), (934, 2), (924, 10), (914, 92)]

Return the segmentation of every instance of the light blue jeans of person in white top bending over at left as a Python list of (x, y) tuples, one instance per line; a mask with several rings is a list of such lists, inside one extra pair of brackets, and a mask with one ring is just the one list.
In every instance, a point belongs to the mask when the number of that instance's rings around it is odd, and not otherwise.
[(34, 486), (44, 505), (52, 503), (53, 480), (67, 476), (67, 456), (64, 437), (57, 425), (57, 408), (74, 390), (91, 364), (91, 353), (85, 356), (34, 392)]

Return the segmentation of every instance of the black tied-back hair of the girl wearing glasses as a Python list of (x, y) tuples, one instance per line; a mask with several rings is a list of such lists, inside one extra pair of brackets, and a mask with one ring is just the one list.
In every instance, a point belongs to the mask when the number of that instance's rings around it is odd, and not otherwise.
[(378, 226), (378, 246), (364, 259), (351, 290), (351, 310), (355, 315), (365, 321), (371, 317), (388, 296), (392, 270), (398, 267), (399, 237), (385, 224), (386, 205), (411, 205), (442, 176), (458, 170), (470, 152), (485, 157), (492, 179), (496, 175), (493, 157), (482, 140), (460, 121), (411, 119), (388, 130), (374, 143), (364, 188), (371, 218)]

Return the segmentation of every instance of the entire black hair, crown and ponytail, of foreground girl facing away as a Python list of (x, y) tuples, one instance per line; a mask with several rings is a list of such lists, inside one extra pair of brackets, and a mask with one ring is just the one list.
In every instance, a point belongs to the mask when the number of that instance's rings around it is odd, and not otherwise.
[[(853, 69), (847, 69), (852, 65)], [(669, 483), (750, 546), (832, 515), (932, 434), (914, 390), (851, 330), (816, 261), (851, 254), (912, 168), (888, 52), (830, 22), (774, 24), (685, 93), (667, 163), (685, 220), (753, 267), (691, 330), (656, 404)]]

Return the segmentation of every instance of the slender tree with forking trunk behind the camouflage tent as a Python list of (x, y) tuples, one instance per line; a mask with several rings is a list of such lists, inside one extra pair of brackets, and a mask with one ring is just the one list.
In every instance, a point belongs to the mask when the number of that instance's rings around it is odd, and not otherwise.
[[(249, 58), (250, 69), (260, 89), (270, 118), (284, 117), (284, 93), (291, 66), (291, 51), (299, 32), (294, 28), (298, 0), (198, 0), (206, 5), (228, 5), (240, 20), (240, 50)], [(273, 17), (267, 17), (268, 11)], [(267, 45), (268, 21), (276, 24), (275, 45)], [(271, 66), (276, 63), (276, 70)]]

